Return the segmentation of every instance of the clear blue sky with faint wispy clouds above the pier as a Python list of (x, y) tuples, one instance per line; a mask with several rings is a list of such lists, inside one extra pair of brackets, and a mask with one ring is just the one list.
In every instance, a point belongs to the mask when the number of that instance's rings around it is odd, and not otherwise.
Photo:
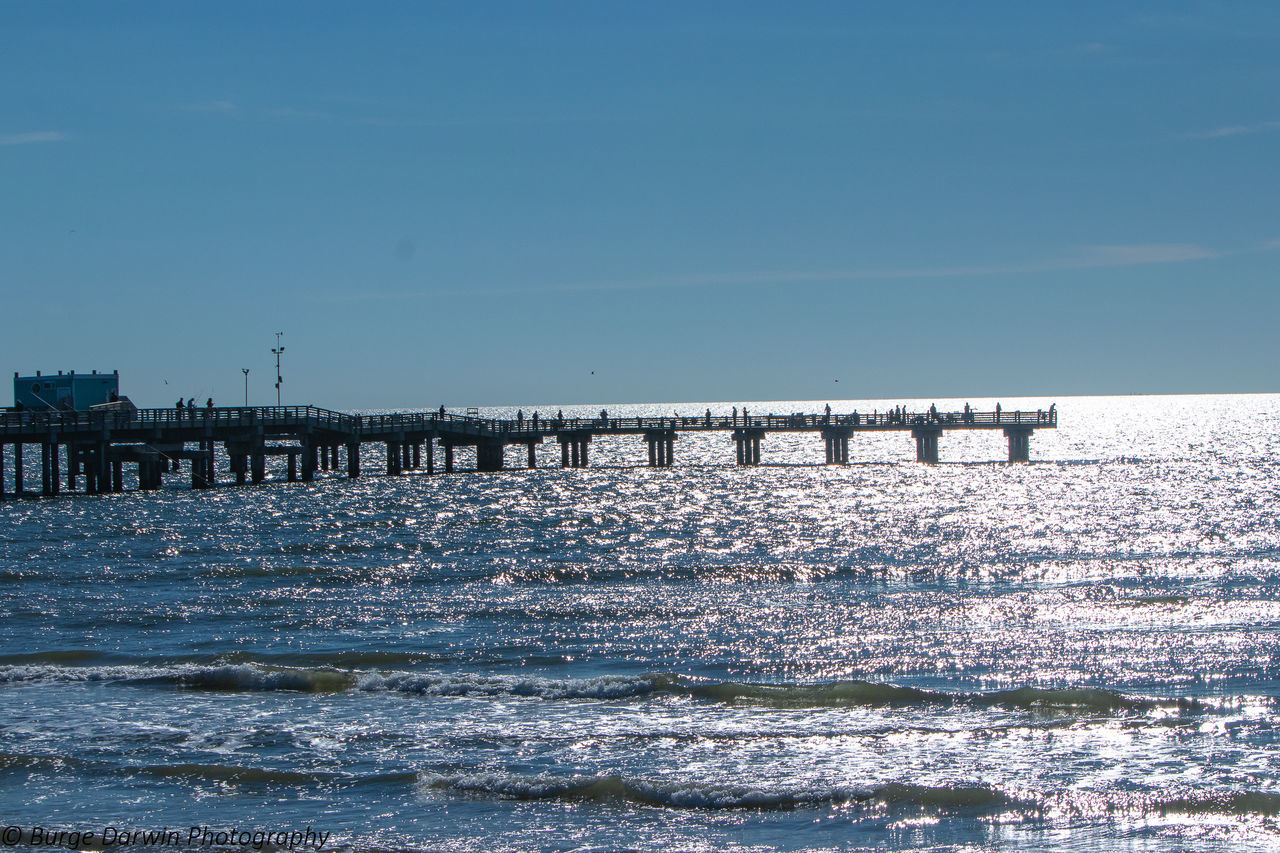
[(143, 406), (1280, 391), (1270, 0), (6, 0), (0, 104), (0, 362)]

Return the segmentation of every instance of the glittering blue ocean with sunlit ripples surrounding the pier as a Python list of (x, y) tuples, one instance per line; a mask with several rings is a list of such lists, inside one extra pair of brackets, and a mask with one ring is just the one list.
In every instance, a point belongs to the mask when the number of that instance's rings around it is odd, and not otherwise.
[(1000, 402), (0, 503), (0, 844), (1280, 850), (1280, 396)]

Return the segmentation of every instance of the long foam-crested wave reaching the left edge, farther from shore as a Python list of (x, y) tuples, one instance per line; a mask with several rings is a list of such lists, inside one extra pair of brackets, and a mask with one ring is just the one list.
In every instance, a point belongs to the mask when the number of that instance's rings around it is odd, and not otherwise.
[(1134, 697), (1108, 688), (1023, 686), (989, 692), (945, 692), (856, 679), (814, 684), (703, 681), (671, 672), (566, 679), (301, 667), (255, 662), (170, 666), (0, 666), (0, 684), (118, 681), (192, 690), (393, 692), (424, 697), (530, 698), (544, 701), (640, 699), (677, 695), (721, 704), (772, 708), (968, 706), (1037, 713), (1203, 713), (1213, 706), (1192, 698)]

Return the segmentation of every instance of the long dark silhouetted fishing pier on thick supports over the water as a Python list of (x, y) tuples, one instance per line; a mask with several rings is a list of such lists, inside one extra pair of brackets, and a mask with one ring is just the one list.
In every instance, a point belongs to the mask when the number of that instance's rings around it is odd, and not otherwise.
[[(960, 429), (1001, 430), (1010, 462), (1030, 460), (1030, 437), (1057, 426), (1057, 409), (1038, 411), (756, 415), (735, 412), (672, 418), (518, 418), (513, 420), (401, 412), (348, 415), (315, 406), (257, 406), (205, 409), (113, 409), (91, 411), (8, 411), (0, 414), (0, 500), (52, 497), (67, 492), (120, 492), (124, 466), (137, 466), (138, 489), (157, 489), (161, 475), (186, 464), (191, 488), (261, 483), (266, 459), (287, 457), (287, 479), (310, 482), (317, 471), (361, 475), (361, 450), (385, 448), (388, 475), (425, 470), (454, 471), (454, 451), (474, 447), (476, 470), (506, 467), (507, 448), (524, 446), (526, 466), (536, 466), (536, 448), (545, 442), (561, 447), (562, 467), (588, 467), (591, 442), (600, 437), (636, 435), (648, 448), (649, 466), (675, 465), (676, 444), (684, 434), (723, 433), (733, 443), (736, 464), (759, 465), (771, 433), (817, 433), (827, 465), (847, 465), (849, 444), (860, 434), (905, 433), (915, 441), (915, 459), (938, 462), (943, 433)], [(218, 471), (221, 446), (225, 470)], [(435, 451), (440, 451), (436, 459)], [(12, 471), (5, 452), (12, 452)], [(40, 460), (38, 484), (26, 482), (24, 455)]]

